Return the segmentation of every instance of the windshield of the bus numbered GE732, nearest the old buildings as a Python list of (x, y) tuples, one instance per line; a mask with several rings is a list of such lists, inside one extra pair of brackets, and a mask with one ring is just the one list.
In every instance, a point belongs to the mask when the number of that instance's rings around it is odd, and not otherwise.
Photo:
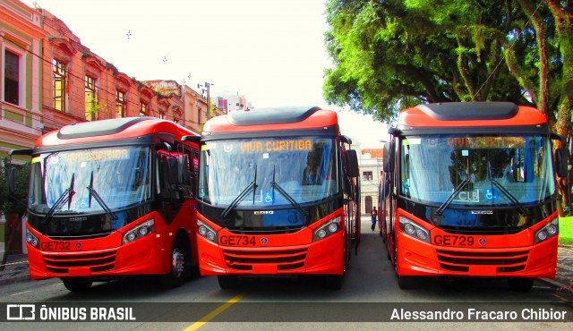
[(117, 147), (40, 154), (32, 159), (31, 212), (100, 213), (151, 197), (150, 149)]

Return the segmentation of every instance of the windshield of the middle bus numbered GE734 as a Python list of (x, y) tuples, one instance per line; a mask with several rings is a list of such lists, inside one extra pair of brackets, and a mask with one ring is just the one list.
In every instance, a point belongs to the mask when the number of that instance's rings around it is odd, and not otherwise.
[(221, 208), (293, 207), (338, 193), (333, 139), (217, 140), (201, 148), (199, 199)]

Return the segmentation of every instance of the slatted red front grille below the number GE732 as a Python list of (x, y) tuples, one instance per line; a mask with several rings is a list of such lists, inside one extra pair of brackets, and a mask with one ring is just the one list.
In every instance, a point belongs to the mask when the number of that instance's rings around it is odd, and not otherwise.
[(115, 266), (115, 251), (105, 253), (48, 255), (44, 254), (47, 271), (66, 274), (70, 267), (90, 267), (91, 272), (102, 272)]

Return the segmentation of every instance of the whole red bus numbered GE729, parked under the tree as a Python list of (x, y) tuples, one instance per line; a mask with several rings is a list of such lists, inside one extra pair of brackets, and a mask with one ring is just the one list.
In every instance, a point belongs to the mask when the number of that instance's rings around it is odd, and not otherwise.
[[(402, 289), (420, 276), (555, 277), (556, 174), (547, 119), (509, 102), (404, 109), (384, 144), (381, 235)], [(553, 161), (555, 157), (555, 162)]]

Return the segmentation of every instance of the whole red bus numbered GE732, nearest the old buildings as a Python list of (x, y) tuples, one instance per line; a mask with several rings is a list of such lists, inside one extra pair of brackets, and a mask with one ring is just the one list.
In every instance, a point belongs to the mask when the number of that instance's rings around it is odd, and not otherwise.
[(38, 138), (30, 155), (26, 246), (32, 279), (73, 292), (118, 276), (175, 287), (197, 265), (197, 136), (131, 117), (76, 123)]

